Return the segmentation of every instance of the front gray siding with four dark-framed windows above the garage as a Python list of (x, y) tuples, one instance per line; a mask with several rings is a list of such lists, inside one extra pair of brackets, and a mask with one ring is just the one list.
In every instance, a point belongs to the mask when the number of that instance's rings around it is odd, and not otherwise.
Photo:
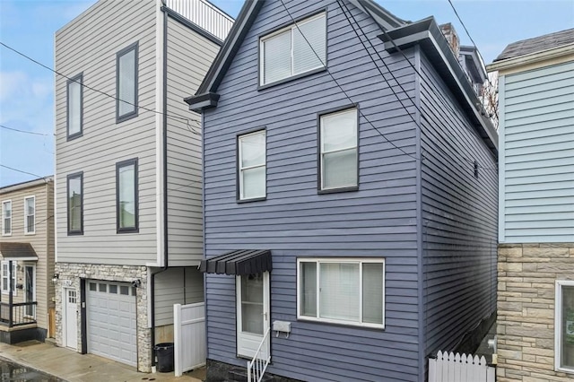
[[(58, 262), (155, 262), (156, 115), (116, 123), (116, 55), (138, 41), (138, 103), (156, 109), (157, 2), (100, 1), (56, 34), (57, 72), (83, 73), (83, 136), (66, 139), (66, 79), (56, 76)], [(126, 19), (126, 14), (129, 18)], [(139, 233), (116, 233), (116, 163), (138, 158)], [(67, 236), (66, 176), (83, 171), (83, 236)]]

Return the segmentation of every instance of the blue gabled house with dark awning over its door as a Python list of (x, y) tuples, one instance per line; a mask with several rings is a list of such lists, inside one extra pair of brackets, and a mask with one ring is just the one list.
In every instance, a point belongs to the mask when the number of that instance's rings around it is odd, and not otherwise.
[(187, 103), (210, 381), (422, 381), (490, 326), (498, 137), (433, 18), (248, 1)]

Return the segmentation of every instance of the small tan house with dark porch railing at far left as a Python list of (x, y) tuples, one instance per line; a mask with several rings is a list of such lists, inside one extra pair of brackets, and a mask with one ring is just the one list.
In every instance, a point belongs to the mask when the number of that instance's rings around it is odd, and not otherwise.
[(0, 188), (0, 342), (54, 337), (54, 178)]

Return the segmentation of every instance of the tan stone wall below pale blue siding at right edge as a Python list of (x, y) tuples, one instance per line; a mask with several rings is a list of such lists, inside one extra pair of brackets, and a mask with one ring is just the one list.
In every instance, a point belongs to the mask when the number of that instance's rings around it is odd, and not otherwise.
[(574, 379), (554, 371), (556, 280), (574, 280), (574, 243), (500, 244), (498, 382)]

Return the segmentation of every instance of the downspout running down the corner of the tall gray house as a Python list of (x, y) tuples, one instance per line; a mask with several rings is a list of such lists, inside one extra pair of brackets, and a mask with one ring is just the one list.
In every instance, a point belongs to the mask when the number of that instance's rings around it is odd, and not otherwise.
[(158, 272), (152, 273), (150, 280), (150, 300), (152, 309), (152, 368), (155, 367), (155, 275), (168, 270), (168, 13), (165, 2), (161, 0), (163, 12), (163, 266)]

